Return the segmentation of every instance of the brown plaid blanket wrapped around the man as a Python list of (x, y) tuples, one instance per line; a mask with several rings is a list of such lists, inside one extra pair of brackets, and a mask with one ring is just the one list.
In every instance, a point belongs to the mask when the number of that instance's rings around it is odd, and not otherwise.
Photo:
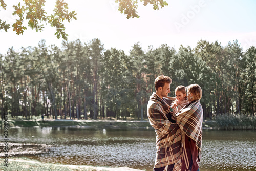
[[(168, 98), (161, 99), (156, 93), (153, 93), (147, 104), (147, 116), (157, 134), (154, 168), (176, 163), (182, 156), (181, 130), (166, 116), (170, 113), (171, 102)], [(175, 170), (181, 170), (180, 165)]]

